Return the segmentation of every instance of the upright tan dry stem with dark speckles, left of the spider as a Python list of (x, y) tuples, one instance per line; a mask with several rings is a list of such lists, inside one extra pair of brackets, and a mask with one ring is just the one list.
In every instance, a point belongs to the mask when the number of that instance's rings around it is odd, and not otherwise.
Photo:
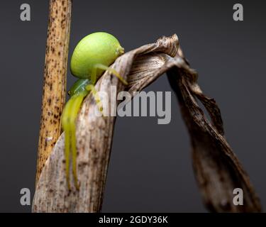
[(50, 0), (36, 184), (62, 133), (60, 120), (65, 104), (71, 8), (71, 0)]

